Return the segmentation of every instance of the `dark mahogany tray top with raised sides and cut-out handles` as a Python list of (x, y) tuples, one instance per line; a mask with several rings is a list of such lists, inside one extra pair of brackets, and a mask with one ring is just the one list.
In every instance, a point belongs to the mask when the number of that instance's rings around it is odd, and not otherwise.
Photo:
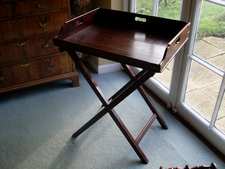
[(188, 40), (189, 29), (183, 21), (97, 8), (66, 22), (54, 43), (161, 72)]

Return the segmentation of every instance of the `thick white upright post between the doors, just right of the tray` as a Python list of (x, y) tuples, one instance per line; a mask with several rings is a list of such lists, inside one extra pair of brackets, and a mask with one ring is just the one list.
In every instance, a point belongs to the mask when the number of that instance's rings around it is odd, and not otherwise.
[(173, 77), (171, 83), (170, 95), (173, 97), (173, 106), (177, 107), (183, 104), (185, 97), (188, 75), (190, 71), (191, 58), (193, 53), (196, 34), (200, 20), (200, 9), (202, 0), (183, 0), (181, 20), (191, 22), (190, 39), (185, 45), (180, 57), (175, 58)]

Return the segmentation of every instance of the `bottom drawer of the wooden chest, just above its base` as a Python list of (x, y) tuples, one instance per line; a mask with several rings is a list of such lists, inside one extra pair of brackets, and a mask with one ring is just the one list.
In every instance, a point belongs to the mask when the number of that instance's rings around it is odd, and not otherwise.
[(0, 69), (0, 88), (39, 80), (73, 71), (70, 57), (65, 53)]

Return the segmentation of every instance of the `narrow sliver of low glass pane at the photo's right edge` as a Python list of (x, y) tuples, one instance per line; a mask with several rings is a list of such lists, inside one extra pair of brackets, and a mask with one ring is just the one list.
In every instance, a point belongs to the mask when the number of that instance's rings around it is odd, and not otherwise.
[(223, 96), (223, 101), (220, 106), (219, 115), (216, 121), (216, 127), (225, 133), (225, 96)]

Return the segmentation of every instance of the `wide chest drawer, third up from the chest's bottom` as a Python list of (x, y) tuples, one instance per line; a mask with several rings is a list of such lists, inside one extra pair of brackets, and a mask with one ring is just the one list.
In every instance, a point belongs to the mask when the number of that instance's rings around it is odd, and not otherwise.
[(57, 32), (68, 17), (66, 11), (0, 22), (0, 42)]

